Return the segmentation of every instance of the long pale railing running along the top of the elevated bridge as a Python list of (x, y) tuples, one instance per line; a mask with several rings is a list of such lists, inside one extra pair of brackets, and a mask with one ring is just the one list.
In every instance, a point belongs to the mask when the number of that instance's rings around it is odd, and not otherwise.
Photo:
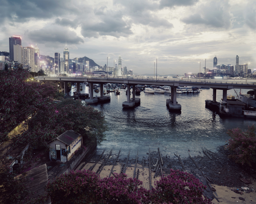
[[(179, 81), (179, 82), (199, 82), (199, 83), (229, 83), (229, 84), (248, 84), (248, 85), (256, 85), (256, 82), (248, 82), (250, 79), (243, 79), (246, 80), (245, 82), (241, 81), (241, 79), (228, 79), (228, 80), (240, 80), (240, 81), (223, 81), (225, 79), (222, 79), (222, 81), (214, 81), (213, 80), (200, 80), (200, 79), (166, 79), (166, 78), (160, 78), (160, 79), (152, 79), (148, 77), (125, 77), (125, 76), (120, 76), (120, 77), (103, 77), (103, 76), (35, 76), (36, 79), (41, 79), (41, 78), (72, 78), (72, 79), (111, 79), (111, 80), (120, 80), (120, 79), (126, 79), (126, 80), (135, 80), (135, 81), (152, 81), (152, 82), (157, 82), (157, 81)], [(254, 79), (255, 80), (255, 79)]]

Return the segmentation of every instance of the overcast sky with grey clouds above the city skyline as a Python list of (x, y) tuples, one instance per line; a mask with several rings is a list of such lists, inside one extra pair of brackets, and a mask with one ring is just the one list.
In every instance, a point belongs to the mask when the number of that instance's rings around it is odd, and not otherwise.
[[(0, 51), (9, 37), (40, 54), (87, 56), (138, 74), (198, 73), (218, 64), (256, 68), (256, 0), (0, 0)], [(235, 66), (234, 66), (235, 67)]]

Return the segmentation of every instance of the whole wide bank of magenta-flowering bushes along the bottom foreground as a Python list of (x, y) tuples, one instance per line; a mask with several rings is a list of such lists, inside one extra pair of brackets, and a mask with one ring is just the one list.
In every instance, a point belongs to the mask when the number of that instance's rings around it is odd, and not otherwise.
[(211, 204), (202, 197), (206, 188), (193, 175), (171, 169), (171, 174), (147, 190), (142, 181), (116, 174), (101, 179), (95, 172), (77, 171), (59, 176), (47, 186), (52, 204)]

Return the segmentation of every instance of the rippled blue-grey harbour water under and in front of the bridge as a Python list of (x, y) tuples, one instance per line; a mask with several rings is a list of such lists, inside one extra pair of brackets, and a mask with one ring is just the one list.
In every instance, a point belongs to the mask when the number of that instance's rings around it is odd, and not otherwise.
[[(89, 93), (88, 86), (82, 84), (81, 93)], [(205, 100), (212, 100), (212, 89), (201, 88), (200, 93), (177, 94), (181, 104), (181, 113), (172, 113), (166, 107), (168, 93), (141, 92), (140, 106), (124, 109), (122, 103), (127, 100), (126, 89), (120, 89), (120, 95), (109, 93), (111, 101), (104, 104), (91, 105), (102, 111), (109, 130), (105, 132), (106, 140), (97, 150), (117, 153), (121, 148), (121, 157), (130, 151), (133, 157), (139, 150), (139, 155), (146, 156), (149, 151), (160, 151), (164, 156), (174, 157), (178, 152), (182, 157), (202, 155), (201, 147), (216, 151), (218, 146), (225, 145), (230, 138), (226, 133), (229, 129), (239, 127), (246, 130), (255, 123), (255, 119), (221, 118), (218, 114), (205, 108)], [(75, 89), (72, 89), (73, 93)], [(240, 90), (236, 90), (239, 93)], [(248, 90), (242, 90), (246, 94)], [(71, 93), (71, 95), (72, 95)], [(222, 90), (217, 90), (216, 100), (222, 98)], [(234, 90), (228, 90), (228, 95), (235, 95)], [(100, 93), (95, 93), (100, 95)], [(132, 97), (132, 95), (131, 95)]]

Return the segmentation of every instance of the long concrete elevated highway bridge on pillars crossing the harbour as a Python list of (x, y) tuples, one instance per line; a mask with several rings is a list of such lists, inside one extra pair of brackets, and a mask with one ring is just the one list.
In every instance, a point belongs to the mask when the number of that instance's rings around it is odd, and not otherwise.
[[(176, 106), (176, 88), (178, 86), (197, 86), (197, 87), (209, 87), (213, 89), (213, 102), (216, 102), (216, 90), (223, 90), (223, 101), (227, 100), (227, 90), (236, 88), (236, 89), (253, 89), (254, 95), (256, 95), (256, 80), (244, 80), (234, 82), (236, 80), (229, 79), (168, 79), (168, 78), (160, 78), (160, 79), (152, 79), (143, 77), (83, 77), (83, 76), (35, 76), (36, 80), (40, 81), (53, 81), (60, 82), (61, 87), (64, 85), (64, 94), (67, 95), (67, 83), (78, 83), (77, 87), (79, 88), (79, 84), (83, 82), (90, 83), (90, 99), (86, 100), (86, 102), (95, 103), (96, 99), (93, 98), (93, 84), (100, 84), (100, 97), (103, 96), (103, 84), (104, 83), (125, 83), (128, 86), (127, 93), (127, 101), (123, 103), (123, 107), (133, 107), (135, 105), (135, 86), (137, 84), (142, 85), (158, 85), (158, 86), (170, 86), (171, 87), (171, 104), (173, 104), (173, 108), (175, 110)], [(133, 99), (130, 99), (130, 86), (133, 86)], [(80, 92), (79, 89), (78, 93)], [(139, 100), (139, 99), (137, 99)], [(181, 107), (180, 107), (181, 109)]]

